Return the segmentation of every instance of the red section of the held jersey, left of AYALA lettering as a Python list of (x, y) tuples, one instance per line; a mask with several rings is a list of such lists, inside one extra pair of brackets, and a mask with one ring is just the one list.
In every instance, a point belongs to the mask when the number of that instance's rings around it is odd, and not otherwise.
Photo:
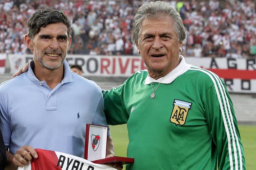
[(59, 161), (56, 153), (52, 150), (35, 149), (40, 159), (33, 159), (31, 161), (31, 170), (61, 170), (60, 165), (57, 167)]

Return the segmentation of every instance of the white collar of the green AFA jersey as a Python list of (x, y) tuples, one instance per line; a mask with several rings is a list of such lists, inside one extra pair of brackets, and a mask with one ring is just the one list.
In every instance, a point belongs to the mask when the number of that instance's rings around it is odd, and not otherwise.
[(177, 67), (175, 67), (171, 72), (169, 72), (167, 75), (165, 75), (164, 77), (161, 77), (157, 80), (151, 78), (150, 76), (147, 76), (145, 79), (144, 84), (150, 84), (150, 82), (156, 82), (156, 83), (163, 83), (163, 84), (169, 84), (171, 82), (173, 82), (173, 80), (175, 80), (179, 75), (185, 73), (190, 67), (190, 64), (187, 64), (185, 62), (185, 59), (182, 55), (180, 55), (180, 63), (178, 64)]

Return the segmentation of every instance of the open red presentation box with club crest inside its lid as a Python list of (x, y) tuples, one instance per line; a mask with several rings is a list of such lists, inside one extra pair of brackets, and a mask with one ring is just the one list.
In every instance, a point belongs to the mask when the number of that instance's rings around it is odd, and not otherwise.
[(128, 164), (134, 163), (133, 158), (113, 156), (106, 158), (107, 126), (86, 124), (84, 159), (97, 164)]

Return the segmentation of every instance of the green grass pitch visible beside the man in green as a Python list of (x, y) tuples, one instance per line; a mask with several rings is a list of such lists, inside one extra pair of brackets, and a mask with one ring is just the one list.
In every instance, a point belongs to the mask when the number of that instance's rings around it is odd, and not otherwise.
[[(126, 156), (127, 145), (129, 143), (126, 124), (110, 126), (110, 129), (115, 144), (116, 156)], [(256, 167), (256, 126), (240, 125), (239, 131), (245, 150), (246, 169), (254, 170)]]

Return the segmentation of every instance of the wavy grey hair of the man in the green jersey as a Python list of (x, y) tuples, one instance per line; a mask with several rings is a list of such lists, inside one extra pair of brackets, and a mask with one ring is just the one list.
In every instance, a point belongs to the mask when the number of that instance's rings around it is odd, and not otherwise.
[(139, 7), (133, 19), (132, 42), (137, 44), (141, 33), (141, 25), (145, 19), (171, 17), (174, 21), (174, 31), (178, 41), (183, 42), (186, 37), (186, 30), (178, 11), (169, 3), (163, 1), (150, 2)]

